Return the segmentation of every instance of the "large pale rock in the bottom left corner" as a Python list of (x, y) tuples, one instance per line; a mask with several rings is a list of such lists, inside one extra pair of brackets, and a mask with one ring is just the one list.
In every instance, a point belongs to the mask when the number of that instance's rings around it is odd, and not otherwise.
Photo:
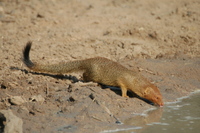
[(22, 119), (15, 116), (11, 110), (0, 110), (0, 124), (1, 123), (3, 123), (4, 125), (3, 126), (4, 133), (22, 133), (23, 132)]

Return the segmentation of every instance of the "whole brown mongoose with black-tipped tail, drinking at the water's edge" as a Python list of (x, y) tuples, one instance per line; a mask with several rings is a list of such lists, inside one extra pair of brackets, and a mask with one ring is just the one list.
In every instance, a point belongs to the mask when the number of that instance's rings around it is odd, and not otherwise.
[(122, 97), (128, 97), (127, 91), (132, 91), (157, 106), (163, 106), (159, 89), (150, 83), (137, 71), (132, 71), (117, 62), (103, 57), (85, 60), (69, 61), (59, 64), (37, 64), (29, 59), (32, 42), (27, 42), (23, 50), (23, 62), (31, 70), (54, 74), (83, 71), (84, 81), (93, 81), (104, 85), (120, 87)]

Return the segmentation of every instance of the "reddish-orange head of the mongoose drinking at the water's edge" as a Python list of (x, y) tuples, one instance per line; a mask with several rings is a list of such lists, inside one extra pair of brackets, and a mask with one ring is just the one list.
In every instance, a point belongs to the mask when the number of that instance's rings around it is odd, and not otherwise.
[(146, 89), (143, 93), (143, 98), (153, 102), (154, 105), (156, 105), (156, 106), (162, 107), (164, 105), (164, 103), (162, 101), (162, 95), (161, 95), (159, 89), (154, 85), (150, 85), (150, 86), (146, 87)]

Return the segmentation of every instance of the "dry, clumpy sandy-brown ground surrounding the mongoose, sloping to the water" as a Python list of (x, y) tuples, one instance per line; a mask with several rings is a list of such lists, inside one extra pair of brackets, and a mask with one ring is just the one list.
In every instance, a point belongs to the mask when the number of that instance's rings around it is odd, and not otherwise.
[(199, 7), (199, 0), (0, 0), (0, 109), (22, 118), (26, 133), (89, 133), (152, 107), (77, 82), (80, 73), (28, 72), (21, 57), (29, 40), (41, 63), (101, 56), (138, 70), (164, 102), (198, 90)]

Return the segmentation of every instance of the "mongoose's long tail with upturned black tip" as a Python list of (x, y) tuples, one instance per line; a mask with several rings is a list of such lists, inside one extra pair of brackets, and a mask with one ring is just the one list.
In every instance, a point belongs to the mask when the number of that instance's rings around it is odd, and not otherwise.
[(64, 74), (74, 71), (81, 71), (84, 69), (82, 67), (82, 61), (71, 61), (66, 63), (49, 64), (49, 65), (33, 63), (29, 57), (31, 46), (32, 42), (30, 41), (27, 42), (23, 50), (23, 62), (29, 69), (33, 71)]

